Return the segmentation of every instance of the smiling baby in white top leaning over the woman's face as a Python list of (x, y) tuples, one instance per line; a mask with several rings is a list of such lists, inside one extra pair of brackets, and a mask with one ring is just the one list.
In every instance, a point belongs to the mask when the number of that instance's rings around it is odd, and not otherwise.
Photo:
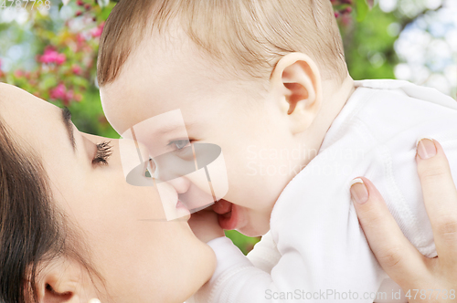
[[(194, 300), (395, 301), (350, 200), (359, 175), (436, 256), (416, 140), (440, 141), (457, 176), (457, 103), (405, 81), (354, 81), (330, 1), (122, 0), (101, 37), (98, 81), (119, 133), (180, 110), (186, 136), (165, 125), (167, 148), (218, 145), (228, 172), (218, 224), (263, 235), (244, 256), (207, 228), (218, 267)], [(175, 187), (186, 193), (185, 181)]]

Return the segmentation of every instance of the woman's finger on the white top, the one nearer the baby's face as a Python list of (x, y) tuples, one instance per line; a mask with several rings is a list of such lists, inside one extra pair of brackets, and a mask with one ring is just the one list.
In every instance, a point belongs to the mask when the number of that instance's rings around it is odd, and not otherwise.
[(403, 235), (373, 183), (355, 179), (351, 195), (368, 244), (388, 276), (404, 287), (425, 273), (424, 257)]

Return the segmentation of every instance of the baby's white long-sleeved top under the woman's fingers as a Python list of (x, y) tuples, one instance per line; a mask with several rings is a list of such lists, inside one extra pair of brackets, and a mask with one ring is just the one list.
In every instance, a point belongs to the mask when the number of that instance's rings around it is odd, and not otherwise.
[[(364, 80), (356, 87), (318, 155), (283, 190), (271, 214), (271, 231), (250, 255), (226, 237), (208, 243), (218, 266), (192, 302), (381, 302), (364, 299), (381, 284), (386, 302), (406, 302), (392, 299), (399, 287), (367, 245), (350, 200), (350, 182), (360, 175), (370, 179), (409, 241), (423, 255), (436, 256), (416, 142), (440, 141), (457, 181), (457, 102), (406, 81)], [(281, 299), (286, 292), (292, 298)]]

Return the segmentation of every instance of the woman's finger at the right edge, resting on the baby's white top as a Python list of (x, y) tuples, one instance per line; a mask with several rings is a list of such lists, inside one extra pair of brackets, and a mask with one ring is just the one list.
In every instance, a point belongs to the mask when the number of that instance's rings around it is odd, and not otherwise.
[(457, 262), (457, 190), (449, 162), (438, 141), (418, 143), (418, 172), (438, 256), (450, 265)]

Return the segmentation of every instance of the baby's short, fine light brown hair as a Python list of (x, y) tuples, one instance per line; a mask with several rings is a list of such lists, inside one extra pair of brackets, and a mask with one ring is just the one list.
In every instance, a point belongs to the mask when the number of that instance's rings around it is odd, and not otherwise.
[(292, 52), (312, 57), (324, 79), (342, 83), (347, 76), (330, 0), (121, 0), (101, 35), (99, 86), (114, 81), (143, 38), (166, 29), (173, 18), (238, 77), (240, 70), (270, 78), (279, 59)]

